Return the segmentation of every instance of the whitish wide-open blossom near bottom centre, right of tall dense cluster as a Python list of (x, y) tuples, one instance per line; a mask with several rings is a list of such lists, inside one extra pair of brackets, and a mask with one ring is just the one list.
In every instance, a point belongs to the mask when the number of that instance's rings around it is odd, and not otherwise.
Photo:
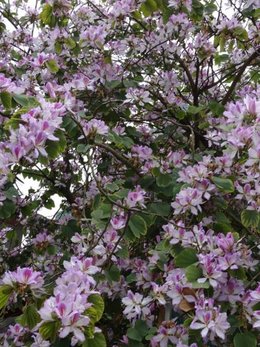
[(152, 298), (144, 297), (139, 293), (133, 293), (128, 291), (127, 296), (122, 299), (122, 303), (126, 306), (123, 313), (127, 319), (135, 320), (141, 316), (150, 314), (149, 304), (152, 302)]

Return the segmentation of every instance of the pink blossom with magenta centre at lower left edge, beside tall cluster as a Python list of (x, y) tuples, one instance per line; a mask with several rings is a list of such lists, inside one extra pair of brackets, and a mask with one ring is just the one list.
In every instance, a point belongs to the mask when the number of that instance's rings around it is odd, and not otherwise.
[(4, 284), (13, 288), (30, 288), (31, 290), (42, 288), (44, 281), (41, 272), (34, 271), (32, 268), (20, 268), (16, 271), (7, 271), (2, 279)]

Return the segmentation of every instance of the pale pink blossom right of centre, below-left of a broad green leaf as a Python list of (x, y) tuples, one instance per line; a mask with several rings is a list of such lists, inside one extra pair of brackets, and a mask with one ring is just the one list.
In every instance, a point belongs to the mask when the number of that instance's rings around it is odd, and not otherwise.
[(176, 195), (175, 201), (171, 204), (174, 209), (174, 214), (185, 213), (191, 211), (192, 214), (197, 215), (201, 212), (202, 192), (196, 188), (182, 189), (180, 193)]

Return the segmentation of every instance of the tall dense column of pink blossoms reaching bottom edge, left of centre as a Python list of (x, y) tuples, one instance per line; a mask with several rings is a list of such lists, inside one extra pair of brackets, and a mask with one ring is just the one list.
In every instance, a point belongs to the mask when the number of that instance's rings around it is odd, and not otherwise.
[(96, 293), (91, 289), (96, 283), (91, 275), (97, 273), (99, 268), (93, 265), (92, 258), (77, 257), (64, 261), (64, 267), (66, 271), (56, 280), (54, 296), (44, 302), (39, 314), (41, 323), (58, 320), (59, 336), (64, 338), (72, 334), (71, 346), (74, 346), (85, 341), (84, 331), (90, 324), (85, 312), (92, 306), (88, 296)]

